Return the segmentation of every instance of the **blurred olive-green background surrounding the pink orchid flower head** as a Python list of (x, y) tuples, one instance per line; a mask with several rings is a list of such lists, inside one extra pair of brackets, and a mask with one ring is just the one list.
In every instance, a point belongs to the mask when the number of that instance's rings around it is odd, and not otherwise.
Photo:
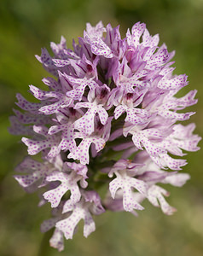
[(198, 89), (199, 102), (188, 110), (197, 112), (190, 121), (203, 136), (203, 0), (1, 0), (0, 255), (203, 255), (202, 151), (187, 155), (183, 172), (190, 173), (191, 180), (181, 189), (166, 187), (171, 191), (168, 201), (178, 209), (173, 216), (148, 202), (138, 218), (107, 212), (96, 217), (96, 232), (88, 239), (80, 225), (62, 253), (49, 248), (48, 237), (39, 230), (49, 218), (49, 206), (38, 208), (38, 195), (26, 195), (12, 177), (14, 166), (26, 155), (20, 137), (7, 131), (15, 94), (31, 99), (28, 84), (40, 87), (48, 75), (34, 55), (40, 55), (41, 47), (49, 49), (50, 41), (58, 43), (61, 35), (71, 47), (86, 22), (96, 25), (99, 20), (105, 26), (120, 24), (123, 36), (140, 20), (152, 35), (159, 33), (160, 43), (176, 49), (175, 73), (187, 73), (189, 80), (183, 94)]

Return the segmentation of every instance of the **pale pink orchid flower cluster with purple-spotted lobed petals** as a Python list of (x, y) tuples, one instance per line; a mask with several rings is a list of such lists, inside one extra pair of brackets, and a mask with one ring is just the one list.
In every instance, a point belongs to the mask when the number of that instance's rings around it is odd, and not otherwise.
[(124, 39), (119, 26), (88, 23), (73, 50), (61, 37), (50, 44), (54, 56), (47, 49), (36, 55), (51, 74), (43, 79), (48, 90), (30, 85), (38, 102), (17, 94), (21, 111), (14, 109), (9, 131), (25, 136), (29, 156), (14, 178), (26, 192), (39, 191), (39, 206), (50, 203), (53, 217), (41, 230), (55, 227), (50, 245), (59, 251), (81, 219), (87, 237), (96, 229), (93, 215), (106, 210), (137, 215), (147, 199), (165, 214), (176, 211), (157, 183), (180, 187), (189, 178), (178, 172), (186, 165), (180, 157), (198, 150), (200, 137), (194, 124), (180, 124), (194, 112), (179, 110), (197, 102), (196, 90), (176, 97), (187, 76), (172, 74), (174, 51), (158, 44), (144, 23)]

